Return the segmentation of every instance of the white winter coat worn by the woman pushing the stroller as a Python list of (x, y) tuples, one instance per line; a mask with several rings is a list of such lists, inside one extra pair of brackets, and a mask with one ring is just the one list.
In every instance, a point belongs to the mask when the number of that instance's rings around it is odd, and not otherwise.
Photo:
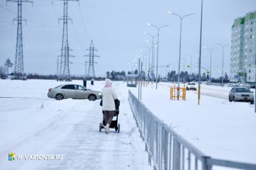
[(102, 110), (103, 111), (115, 111), (115, 99), (116, 93), (112, 87), (102, 88)]

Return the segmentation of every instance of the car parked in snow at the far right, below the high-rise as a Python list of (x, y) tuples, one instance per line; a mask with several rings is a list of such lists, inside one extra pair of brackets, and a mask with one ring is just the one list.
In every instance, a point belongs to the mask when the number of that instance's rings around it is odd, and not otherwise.
[(248, 88), (232, 88), (228, 95), (229, 102), (250, 102), (254, 104), (253, 92)]

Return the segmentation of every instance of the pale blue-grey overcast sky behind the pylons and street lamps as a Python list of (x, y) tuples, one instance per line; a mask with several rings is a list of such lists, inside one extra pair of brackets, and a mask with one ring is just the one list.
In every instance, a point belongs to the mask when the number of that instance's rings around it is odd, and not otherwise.
[[(143, 32), (156, 34), (156, 29), (147, 26), (150, 22), (157, 26), (170, 24), (161, 30), (159, 44), (159, 65), (174, 63), (178, 68), (179, 58), (179, 18), (167, 11), (186, 15), (196, 13), (184, 19), (182, 27), (182, 58), (195, 70), (198, 60), (200, 36), (200, 0), (81, 0), (80, 3), (70, 1), (68, 15), (73, 24), (68, 24), (68, 40), (72, 54), (70, 65), (72, 75), (84, 74), (83, 55), (88, 54), (90, 40), (99, 50), (100, 58), (95, 59), (97, 76), (106, 75), (111, 70), (131, 70), (135, 56), (144, 45), (150, 46), (150, 37)], [(216, 43), (231, 41), (231, 26), (234, 19), (250, 11), (256, 10), (255, 0), (205, 0), (203, 13), (202, 46), (218, 47)], [(13, 63), (15, 59), (15, 43), (17, 23), (17, 4), (0, 2), (0, 65), (7, 58)], [(62, 27), (58, 18), (63, 15), (63, 2), (52, 0), (35, 0), (34, 5), (24, 4), (22, 11), (27, 24), (23, 25), (24, 71), (26, 73), (56, 73), (56, 59), (60, 55)], [(220, 76), (222, 50), (220, 47), (212, 53), (212, 76)], [(209, 68), (210, 53), (202, 54), (202, 66)], [(225, 47), (225, 72), (229, 74), (230, 45)], [(87, 58), (88, 59), (88, 58)], [(183, 61), (181, 68), (183, 69)], [(189, 70), (188, 70), (189, 71)], [(161, 68), (160, 73), (163, 73)]]

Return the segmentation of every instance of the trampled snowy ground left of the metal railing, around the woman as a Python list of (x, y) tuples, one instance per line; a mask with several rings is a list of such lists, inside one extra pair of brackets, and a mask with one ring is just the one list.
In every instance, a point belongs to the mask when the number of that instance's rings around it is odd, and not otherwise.
[[(129, 108), (126, 84), (115, 83), (121, 100), (120, 134), (111, 130), (106, 135), (99, 132), (99, 100), (47, 98), (49, 88), (63, 83), (0, 80), (0, 169), (152, 169)], [(88, 88), (100, 90), (103, 85), (95, 82)], [(12, 162), (8, 153), (63, 158)]]

